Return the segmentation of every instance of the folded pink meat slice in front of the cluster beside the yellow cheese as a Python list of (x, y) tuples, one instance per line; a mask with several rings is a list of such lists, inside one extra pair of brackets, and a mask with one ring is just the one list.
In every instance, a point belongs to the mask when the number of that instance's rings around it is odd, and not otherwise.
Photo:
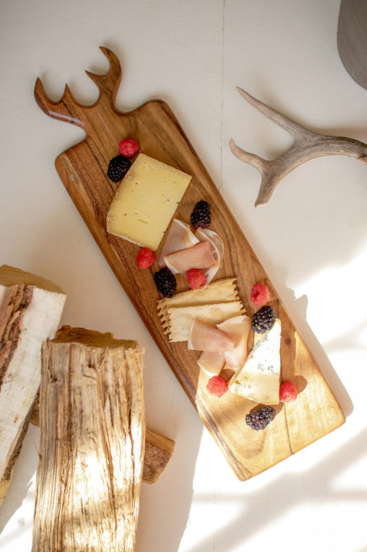
[(202, 242), (196, 246), (176, 251), (165, 256), (165, 263), (171, 273), (187, 273), (190, 268), (211, 268), (218, 266), (218, 261), (211, 252), (209, 242)]

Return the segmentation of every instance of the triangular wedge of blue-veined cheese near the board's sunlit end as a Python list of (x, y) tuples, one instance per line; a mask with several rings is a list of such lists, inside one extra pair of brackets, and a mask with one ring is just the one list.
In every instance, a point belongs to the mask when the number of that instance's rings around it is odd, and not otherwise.
[(276, 319), (231, 378), (229, 391), (262, 404), (278, 404), (280, 331), (280, 319)]

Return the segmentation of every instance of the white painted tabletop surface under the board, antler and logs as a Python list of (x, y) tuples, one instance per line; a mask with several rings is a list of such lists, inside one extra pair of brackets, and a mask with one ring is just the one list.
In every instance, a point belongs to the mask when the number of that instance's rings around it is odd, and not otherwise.
[[(143, 484), (139, 552), (366, 552), (367, 166), (334, 156), (291, 172), (255, 209), (260, 175), (231, 138), (271, 158), (291, 137), (240, 86), (311, 130), (367, 142), (367, 90), (337, 52), (339, 0), (1, 0), (0, 264), (67, 293), (63, 324), (138, 339), (147, 426), (176, 441)], [(129, 303), (63, 188), (54, 159), (83, 132), (46, 117), (33, 87), (98, 92), (98, 46), (123, 66), (120, 110), (169, 103), (346, 413), (346, 423), (240, 482)], [(240, 252), (239, 252), (240, 254)], [(30, 426), (0, 509), (0, 550), (30, 552), (39, 431)]]

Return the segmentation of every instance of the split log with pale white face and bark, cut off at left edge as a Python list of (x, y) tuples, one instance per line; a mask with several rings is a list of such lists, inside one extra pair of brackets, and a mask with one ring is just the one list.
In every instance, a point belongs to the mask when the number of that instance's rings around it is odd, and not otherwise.
[(54, 337), (66, 295), (50, 280), (0, 267), (0, 506), (41, 381), (41, 346)]

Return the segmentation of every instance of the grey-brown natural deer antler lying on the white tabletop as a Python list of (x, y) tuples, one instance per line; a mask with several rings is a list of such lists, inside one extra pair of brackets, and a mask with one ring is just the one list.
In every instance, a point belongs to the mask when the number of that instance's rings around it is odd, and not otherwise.
[(266, 117), (274, 121), (277, 125), (282, 126), (282, 128), (287, 130), (294, 138), (291, 149), (281, 157), (271, 161), (242, 150), (231, 140), (230, 148), (233, 154), (241, 161), (249, 163), (257, 168), (262, 175), (255, 207), (264, 205), (269, 201), (275, 190), (275, 186), (277, 186), (279, 181), (291, 172), (291, 170), (314, 157), (322, 157), (323, 155), (349, 155), (350, 157), (356, 157), (358, 161), (367, 163), (367, 144), (352, 138), (327, 136), (312, 132), (273, 110), (269, 106), (266, 106), (266, 103), (262, 103), (262, 101), (253, 98), (242, 90), (242, 88), (237, 87), (237, 90), (244, 99), (251, 103), (251, 106), (264, 113)]

